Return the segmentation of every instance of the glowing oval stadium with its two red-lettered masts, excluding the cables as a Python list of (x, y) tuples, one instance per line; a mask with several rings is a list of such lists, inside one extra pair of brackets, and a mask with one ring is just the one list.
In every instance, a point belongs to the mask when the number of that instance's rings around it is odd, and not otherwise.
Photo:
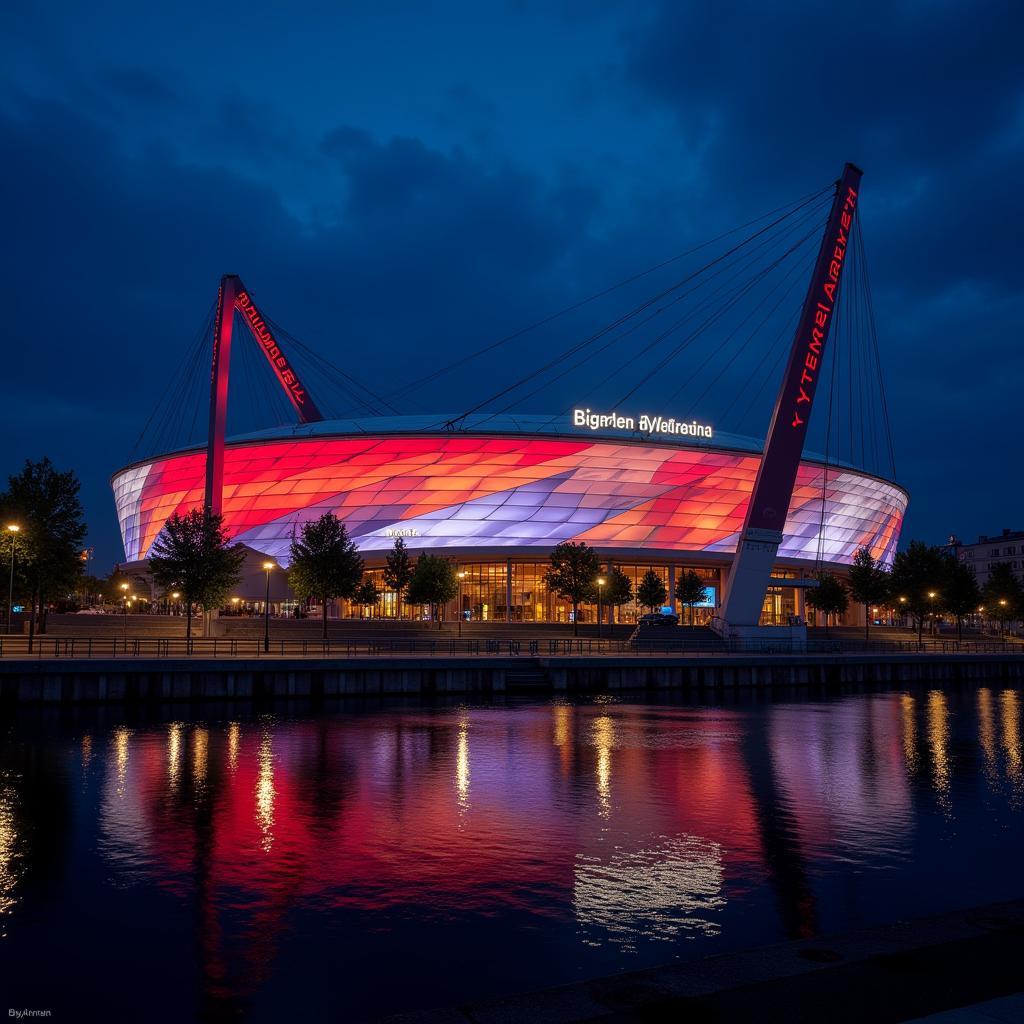
[[(568, 602), (549, 592), (545, 568), (557, 544), (577, 541), (594, 548), (606, 569), (631, 575), (634, 592), (653, 569), (673, 595), (679, 570), (696, 569), (708, 584), (700, 615), (717, 631), (745, 642), (772, 633), (767, 627), (786, 626), (799, 644), (803, 589), (815, 585), (807, 578), (822, 568), (842, 572), (860, 548), (890, 563), (907, 504), (892, 480), (804, 452), (844, 268), (856, 262), (848, 254), (860, 177), (847, 164), (827, 201), (763, 443), (717, 434), (685, 410), (678, 419), (671, 410), (590, 408), (513, 418), (477, 413), (490, 400), (484, 399), (451, 419), (328, 420), (285, 354), (280, 329), (241, 279), (224, 275), (212, 325), (207, 444), (136, 463), (114, 477), (128, 561), (138, 565), (148, 557), (173, 513), (205, 507), (222, 515), (228, 537), (260, 560), (287, 565), (303, 524), (330, 512), (354, 539), (378, 590), (384, 590), (385, 556), (401, 538), (414, 554), (440, 553), (457, 564), (461, 607), (450, 613), (564, 622)], [(276, 376), (296, 426), (226, 436), (236, 319)], [(834, 376), (838, 361), (837, 355)], [(852, 414), (850, 422), (852, 430)], [(377, 610), (417, 613), (396, 608), (395, 595), (386, 592)], [(621, 608), (617, 617), (631, 621), (639, 610)], [(594, 609), (583, 614), (593, 618)]]

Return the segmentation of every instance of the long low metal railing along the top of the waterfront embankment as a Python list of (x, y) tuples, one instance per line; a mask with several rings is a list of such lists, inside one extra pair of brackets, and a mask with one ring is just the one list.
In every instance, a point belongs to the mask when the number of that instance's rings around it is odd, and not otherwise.
[(596, 637), (482, 638), (392, 638), (351, 637), (271, 640), (263, 650), (262, 637), (36, 637), (29, 650), (28, 638), (0, 636), (0, 658), (169, 658), (169, 657), (398, 657), (401, 655), (461, 655), (549, 657), (670, 654), (1006, 654), (1024, 656), (1019, 643), (1007, 640), (841, 640), (810, 639), (799, 650), (780, 641), (739, 643), (727, 640), (685, 640), (673, 637), (598, 639)]

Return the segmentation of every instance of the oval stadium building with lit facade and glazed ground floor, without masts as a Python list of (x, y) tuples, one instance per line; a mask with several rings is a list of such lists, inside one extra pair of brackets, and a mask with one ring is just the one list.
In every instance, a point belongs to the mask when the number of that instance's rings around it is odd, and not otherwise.
[[(634, 578), (648, 568), (670, 592), (680, 569), (708, 580), (719, 606), (760, 463), (761, 445), (574, 428), (570, 419), (439, 417), (327, 421), (227, 441), (221, 511), (237, 542), (287, 565), (304, 522), (333, 512), (383, 590), (380, 567), (396, 537), (412, 553), (443, 554), (465, 571), (464, 610), (475, 620), (565, 622), (544, 569), (561, 541), (585, 541)], [(147, 557), (173, 512), (201, 507), (206, 450), (137, 463), (113, 479), (125, 555)], [(775, 577), (842, 569), (860, 547), (891, 561), (907, 496), (853, 467), (805, 459)], [(454, 609), (452, 609), (454, 611)], [(617, 610), (630, 622), (635, 606)], [(765, 622), (802, 612), (801, 593), (772, 587)], [(342, 614), (356, 609), (342, 607)], [(394, 595), (378, 612), (395, 614)], [(594, 609), (584, 615), (593, 620)]]

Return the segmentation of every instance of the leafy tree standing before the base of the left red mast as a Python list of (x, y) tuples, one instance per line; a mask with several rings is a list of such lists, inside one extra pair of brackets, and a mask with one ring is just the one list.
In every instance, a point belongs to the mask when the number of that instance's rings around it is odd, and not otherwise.
[(208, 509), (175, 512), (153, 545), (150, 573), (162, 591), (179, 591), (185, 603), (185, 636), (191, 638), (193, 605), (204, 611), (227, 600), (242, 578), (246, 552), (228, 545), (221, 516)]

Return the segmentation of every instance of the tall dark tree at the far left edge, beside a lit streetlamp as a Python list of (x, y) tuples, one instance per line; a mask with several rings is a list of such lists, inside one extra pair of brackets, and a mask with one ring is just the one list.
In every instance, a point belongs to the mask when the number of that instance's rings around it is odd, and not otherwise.
[[(36, 609), (58, 594), (73, 592), (82, 574), (85, 519), (78, 493), (81, 484), (72, 472), (59, 472), (49, 459), (27, 461), (0, 495), (0, 515), (17, 523), (18, 589), (28, 594), (29, 650), (36, 631)], [(9, 549), (8, 549), (9, 551)], [(43, 613), (41, 630), (46, 630)]]

